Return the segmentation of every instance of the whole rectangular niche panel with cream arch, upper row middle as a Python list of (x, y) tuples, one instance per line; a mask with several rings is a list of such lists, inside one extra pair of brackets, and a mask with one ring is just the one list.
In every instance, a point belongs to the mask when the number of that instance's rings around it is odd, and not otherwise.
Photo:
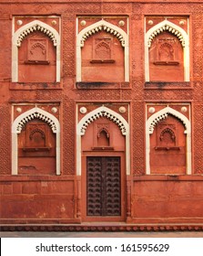
[[(112, 23), (113, 22), (113, 23)], [(117, 26), (114, 23), (117, 23)], [(78, 17), (76, 37), (76, 81), (128, 81), (128, 35), (125, 29), (127, 17), (115, 19), (113, 17)], [(121, 28), (122, 27), (122, 28)], [(124, 29), (123, 29), (124, 28)], [(127, 30), (127, 27), (126, 27)], [(97, 36), (96, 36), (97, 35)], [(109, 35), (109, 36), (108, 36)], [(92, 37), (94, 41), (92, 42)], [(87, 40), (88, 38), (88, 40)], [(102, 40), (100, 44), (97, 40)], [(110, 41), (113, 43), (110, 43)], [(107, 42), (108, 41), (108, 42)], [(118, 43), (120, 41), (120, 44)], [(114, 51), (111, 45), (114, 44)], [(119, 48), (121, 45), (121, 48)], [(93, 48), (93, 58), (98, 55), (98, 47), (106, 48), (108, 56), (90, 59), (90, 50)], [(82, 49), (83, 48), (83, 49)], [(124, 48), (124, 49), (123, 49)], [(109, 55), (110, 54), (110, 55)], [(104, 52), (103, 52), (104, 55)], [(92, 56), (92, 55), (91, 55)], [(113, 57), (114, 56), (114, 57)], [(98, 65), (98, 63), (100, 65)], [(101, 66), (102, 64), (102, 66)], [(111, 66), (109, 66), (111, 65)], [(110, 68), (110, 69), (109, 69)], [(99, 69), (99, 72), (96, 70)], [(91, 71), (92, 70), (92, 71)], [(108, 72), (107, 72), (108, 70)], [(113, 73), (112, 73), (113, 72)], [(100, 77), (103, 73), (107, 76)], [(114, 76), (117, 73), (118, 79)], [(89, 74), (89, 75), (88, 75)], [(100, 74), (100, 76), (98, 75)], [(120, 75), (122, 74), (122, 76)], [(98, 76), (98, 77), (96, 77)]]

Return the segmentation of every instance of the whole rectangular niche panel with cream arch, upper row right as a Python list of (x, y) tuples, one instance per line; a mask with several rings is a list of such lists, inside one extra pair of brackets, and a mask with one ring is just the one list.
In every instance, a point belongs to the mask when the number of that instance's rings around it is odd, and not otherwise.
[(146, 81), (189, 81), (187, 16), (146, 17), (145, 71)]

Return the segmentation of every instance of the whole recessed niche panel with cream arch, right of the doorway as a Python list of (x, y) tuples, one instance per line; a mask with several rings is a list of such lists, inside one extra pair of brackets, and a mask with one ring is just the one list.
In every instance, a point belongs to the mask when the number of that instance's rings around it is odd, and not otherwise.
[(191, 174), (189, 104), (147, 104), (147, 174)]

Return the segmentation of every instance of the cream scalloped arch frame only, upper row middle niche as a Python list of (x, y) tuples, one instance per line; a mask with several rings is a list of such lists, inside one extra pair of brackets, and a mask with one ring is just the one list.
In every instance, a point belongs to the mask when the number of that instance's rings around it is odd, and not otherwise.
[(122, 47), (125, 49), (124, 62), (125, 62), (125, 81), (129, 81), (129, 45), (127, 33), (106, 20), (100, 20), (83, 30), (81, 30), (76, 37), (76, 81), (81, 81), (81, 48), (84, 47), (87, 37), (91, 37), (97, 32), (104, 30), (109, 34), (114, 35), (121, 42)]

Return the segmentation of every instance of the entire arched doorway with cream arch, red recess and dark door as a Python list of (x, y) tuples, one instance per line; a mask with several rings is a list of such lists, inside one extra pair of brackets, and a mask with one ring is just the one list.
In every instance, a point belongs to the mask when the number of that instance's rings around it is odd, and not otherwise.
[[(86, 125), (87, 120), (92, 121)], [(124, 221), (129, 171), (128, 124), (107, 107), (87, 114), (78, 123), (78, 132), (81, 133), (84, 124), (86, 131), (80, 137), (82, 221)]]

